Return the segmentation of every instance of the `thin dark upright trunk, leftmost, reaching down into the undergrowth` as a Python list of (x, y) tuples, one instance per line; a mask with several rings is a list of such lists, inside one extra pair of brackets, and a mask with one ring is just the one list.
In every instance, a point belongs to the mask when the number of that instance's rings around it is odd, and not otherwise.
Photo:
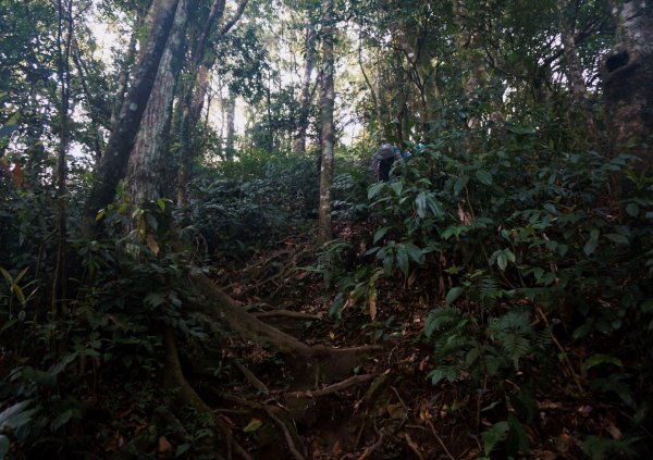
[(73, 38), (73, 0), (58, 0), (59, 24), (57, 34), (57, 64), (60, 88), (60, 139), (57, 152), (57, 263), (52, 281), (52, 311), (65, 310), (67, 297), (67, 228), (65, 212), (65, 196), (67, 194), (66, 179), (66, 153), (70, 144), (70, 100), (71, 100), (71, 40)]

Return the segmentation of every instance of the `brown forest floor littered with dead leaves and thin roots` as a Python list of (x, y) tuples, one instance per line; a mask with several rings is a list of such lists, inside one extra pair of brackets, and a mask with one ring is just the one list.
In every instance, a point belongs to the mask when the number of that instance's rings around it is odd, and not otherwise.
[[(341, 226), (341, 237), (356, 228)], [(211, 277), (259, 319), (308, 345), (334, 348), (380, 344), (383, 350), (359, 363), (346, 378), (293, 380), (293, 357), (275, 356), (257, 344), (231, 339), (224, 350), (242, 372), (220, 383), (221, 418), (255, 459), (473, 459), (483, 457), (482, 433), (504, 420), (506, 391), (476, 389), (465, 375), (454, 384), (432, 385), (432, 348), (421, 334), (428, 314), (423, 293), (408, 281), (381, 284), (378, 318), (357, 307), (340, 323), (328, 314), (328, 295), (316, 263), (310, 235), (288, 237), (256, 253), (246, 266), (214, 269)], [(587, 434), (620, 436), (619, 415), (559, 372), (541, 375), (535, 409), (523, 424), (530, 444), (525, 458), (586, 458), (579, 447)], [(537, 369), (537, 366), (535, 366)], [(229, 373), (227, 373), (229, 374)], [(318, 375), (318, 373), (316, 373)], [(519, 385), (519, 382), (509, 382)], [(198, 388), (201, 394), (201, 387)], [(243, 411), (243, 400), (250, 410)], [(231, 403), (226, 403), (231, 401)], [(273, 408), (274, 411), (271, 411)], [(274, 417), (276, 413), (279, 417)], [(497, 457), (495, 457), (497, 456)], [(493, 458), (505, 453), (495, 450)]]

